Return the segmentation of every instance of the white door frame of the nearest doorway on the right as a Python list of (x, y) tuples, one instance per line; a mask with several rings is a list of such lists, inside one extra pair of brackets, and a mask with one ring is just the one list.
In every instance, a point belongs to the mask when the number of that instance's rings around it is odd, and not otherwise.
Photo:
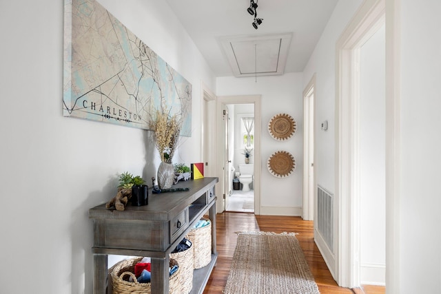
[[(354, 125), (358, 93), (357, 50), (363, 40), (386, 24), (386, 285), (400, 292), (400, 0), (365, 0), (336, 45), (336, 280), (359, 286), (357, 149)], [(356, 103), (355, 103), (356, 104)]]

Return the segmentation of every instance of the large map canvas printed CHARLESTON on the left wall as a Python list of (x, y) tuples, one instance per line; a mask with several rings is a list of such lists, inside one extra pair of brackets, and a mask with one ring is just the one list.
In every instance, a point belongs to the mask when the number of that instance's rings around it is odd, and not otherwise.
[(192, 85), (98, 2), (64, 9), (63, 115), (149, 129), (167, 109), (191, 136)]

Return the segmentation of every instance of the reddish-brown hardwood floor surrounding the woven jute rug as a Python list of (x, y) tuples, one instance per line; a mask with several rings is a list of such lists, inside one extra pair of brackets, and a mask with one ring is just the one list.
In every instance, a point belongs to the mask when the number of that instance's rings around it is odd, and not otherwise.
[[(237, 231), (272, 231), (275, 233), (295, 232), (302, 247), (309, 269), (314, 275), (322, 294), (355, 293), (349, 288), (341, 288), (327, 269), (320, 251), (314, 243), (314, 224), (291, 216), (254, 216), (254, 213), (218, 213), (216, 215), (216, 243), (218, 260), (209, 277), (203, 293), (222, 294), (236, 248)], [(358, 289), (365, 294), (385, 293), (384, 287), (366, 286)]]

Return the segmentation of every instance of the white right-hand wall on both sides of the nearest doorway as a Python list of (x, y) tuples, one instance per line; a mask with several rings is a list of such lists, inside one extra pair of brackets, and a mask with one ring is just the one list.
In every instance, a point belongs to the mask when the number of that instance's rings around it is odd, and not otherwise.
[[(318, 183), (334, 191), (335, 44), (361, 1), (340, 0), (304, 71), (306, 85), (317, 74), (316, 123), (329, 131), (317, 136)], [(399, 291), (439, 293), (441, 288), (441, 2), (387, 1), (400, 5), (400, 251)], [(391, 98), (391, 97), (387, 97)], [(330, 136), (327, 136), (327, 135)], [(391, 211), (386, 211), (386, 213)], [(393, 294), (395, 294), (393, 293)]]

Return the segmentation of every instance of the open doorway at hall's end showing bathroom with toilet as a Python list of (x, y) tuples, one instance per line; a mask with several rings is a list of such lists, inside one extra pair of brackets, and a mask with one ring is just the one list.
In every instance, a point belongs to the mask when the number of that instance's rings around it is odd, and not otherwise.
[[(254, 165), (254, 162), (260, 162), (260, 98), (260, 95), (218, 97), (217, 134), (223, 134), (217, 136), (216, 144), (216, 169), (222, 175), (219, 177), (222, 194), (218, 195), (223, 196), (218, 196), (218, 213), (227, 210), (260, 214), (260, 165)], [(226, 152), (226, 149), (229, 151)], [(244, 153), (247, 150), (251, 154), (249, 163), (245, 163)], [(244, 169), (240, 172), (240, 165), (248, 171)], [(248, 176), (249, 180), (243, 177), (241, 182), (241, 175)], [(236, 176), (239, 182), (234, 180)], [(247, 185), (245, 189), (244, 185)]]

